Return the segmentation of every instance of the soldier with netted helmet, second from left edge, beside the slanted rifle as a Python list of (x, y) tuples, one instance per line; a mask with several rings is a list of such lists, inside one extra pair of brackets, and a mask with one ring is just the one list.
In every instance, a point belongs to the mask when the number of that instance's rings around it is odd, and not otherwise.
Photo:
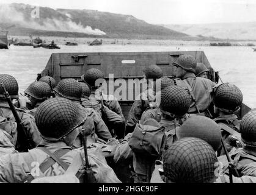
[[(51, 88), (45, 82), (34, 82), (24, 91), (24, 94), (29, 98), (30, 104), (33, 107), (29, 110), (32, 116), (35, 116), (37, 107), (42, 104), (43, 101), (51, 97)], [(26, 105), (21, 105), (22, 108), (26, 109)]]

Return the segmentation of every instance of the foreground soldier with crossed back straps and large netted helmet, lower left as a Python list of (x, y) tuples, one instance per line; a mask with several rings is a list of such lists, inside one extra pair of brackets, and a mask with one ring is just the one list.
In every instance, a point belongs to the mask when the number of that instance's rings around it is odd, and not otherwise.
[[(29, 152), (3, 155), (0, 182), (30, 182), (40, 177), (60, 176), (70, 165), (82, 169), (84, 151), (72, 150), (70, 146), (87, 122), (87, 116), (84, 117), (68, 99), (53, 98), (40, 104), (35, 121), (43, 140)], [(88, 148), (87, 151), (95, 182), (120, 182), (98, 147)], [(34, 163), (38, 165), (37, 174), (34, 174)]]

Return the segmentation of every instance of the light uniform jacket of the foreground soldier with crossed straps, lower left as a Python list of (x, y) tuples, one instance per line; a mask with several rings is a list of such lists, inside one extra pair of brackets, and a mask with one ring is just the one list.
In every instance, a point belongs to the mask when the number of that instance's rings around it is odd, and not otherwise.
[[(57, 150), (68, 150), (66, 154), (60, 157), (65, 163), (70, 165), (76, 155), (84, 156), (84, 152), (80, 149), (72, 150), (64, 142), (51, 143), (43, 141), (40, 146), (46, 147), (50, 152), (54, 153)], [(115, 175), (114, 171), (108, 166), (106, 160), (100, 151), (100, 148), (88, 149), (89, 164), (95, 176), (97, 183), (120, 183), (120, 180)], [(0, 158), (0, 182), (20, 183), (29, 179), (31, 172), (33, 172), (33, 162), (41, 165), (49, 157), (40, 149), (32, 149), (26, 153), (7, 154)], [(82, 168), (82, 167), (81, 167)], [(45, 176), (59, 176), (65, 174), (65, 170), (57, 163), (46, 169), (43, 173), (40, 171), (38, 177)], [(35, 178), (37, 178), (35, 176)]]

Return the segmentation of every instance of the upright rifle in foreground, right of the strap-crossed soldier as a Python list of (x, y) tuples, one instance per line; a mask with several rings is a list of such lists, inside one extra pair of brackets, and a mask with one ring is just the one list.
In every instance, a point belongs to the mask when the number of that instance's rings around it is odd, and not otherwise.
[(88, 154), (87, 154), (87, 138), (86, 138), (86, 130), (82, 129), (82, 144), (84, 146), (84, 161), (86, 164), (84, 165), (84, 183), (95, 183), (95, 177), (93, 176), (92, 168), (90, 168)]

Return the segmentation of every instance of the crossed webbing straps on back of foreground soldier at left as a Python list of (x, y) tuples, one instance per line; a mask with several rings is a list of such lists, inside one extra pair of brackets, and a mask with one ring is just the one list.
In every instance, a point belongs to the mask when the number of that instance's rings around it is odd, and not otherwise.
[(40, 149), (41, 151), (45, 152), (49, 155), (49, 159), (44, 161), (40, 166), (40, 170), (42, 172), (45, 172), (49, 167), (53, 166), (54, 163), (58, 163), (62, 168), (66, 171), (68, 169), (68, 164), (65, 163), (63, 160), (60, 159), (63, 155), (67, 154), (67, 152), (71, 151), (71, 149), (59, 149), (56, 152), (51, 153), (46, 149), (46, 147), (37, 147), (37, 149)]

